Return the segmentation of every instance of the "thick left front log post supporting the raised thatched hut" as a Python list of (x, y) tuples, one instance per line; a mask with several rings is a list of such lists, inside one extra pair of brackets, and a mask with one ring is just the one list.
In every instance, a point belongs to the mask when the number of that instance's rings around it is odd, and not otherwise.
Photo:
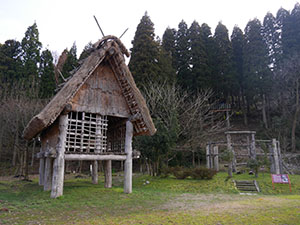
[(51, 198), (63, 195), (67, 126), (68, 115), (61, 114), (59, 118), (59, 140), (56, 146), (57, 156), (53, 165)]

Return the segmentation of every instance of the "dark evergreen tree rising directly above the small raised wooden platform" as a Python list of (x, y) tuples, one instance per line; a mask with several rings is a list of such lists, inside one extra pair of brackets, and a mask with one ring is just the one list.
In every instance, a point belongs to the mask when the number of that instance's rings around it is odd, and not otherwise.
[(232, 68), (232, 47), (227, 28), (219, 22), (214, 34), (215, 66), (214, 90), (219, 97), (227, 99), (236, 88)]

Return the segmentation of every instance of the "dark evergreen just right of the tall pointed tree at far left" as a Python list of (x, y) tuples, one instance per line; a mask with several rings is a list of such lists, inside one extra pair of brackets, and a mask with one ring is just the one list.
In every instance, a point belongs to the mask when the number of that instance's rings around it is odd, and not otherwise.
[(53, 96), (55, 90), (55, 75), (53, 57), (51, 52), (47, 49), (42, 52), (40, 64), (40, 90), (39, 96), (41, 98), (49, 98)]

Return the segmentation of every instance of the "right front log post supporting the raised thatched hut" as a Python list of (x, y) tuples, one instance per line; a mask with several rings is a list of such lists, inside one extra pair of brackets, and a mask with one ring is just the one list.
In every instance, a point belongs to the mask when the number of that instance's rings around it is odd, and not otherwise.
[(126, 134), (125, 134), (125, 153), (126, 160), (124, 165), (124, 192), (132, 192), (132, 136), (133, 125), (131, 121), (126, 122)]

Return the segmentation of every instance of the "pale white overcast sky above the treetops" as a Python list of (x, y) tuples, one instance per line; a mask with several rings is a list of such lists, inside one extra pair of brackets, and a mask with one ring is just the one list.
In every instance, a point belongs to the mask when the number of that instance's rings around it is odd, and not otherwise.
[(237, 24), (244, 30), (253, 18), (261, 21), (267, 12), (276, 15), (283, 7), (292, 10), (296, 0), (0, 0), (0, 43), (21, 41), (27, 27), (37, 23), (44, 48), (60, 54), (76, 42), (78, 55), (90, 41), (101, 38), (93, 15), (105, 33), (120, 36), (131, 47), (136, 27), (145, 11), (162, 37), (167, 27), (176, 28), (183, 19), (188, 26), (196, 20), (212, 32), (219, 21), (229, 30)]

